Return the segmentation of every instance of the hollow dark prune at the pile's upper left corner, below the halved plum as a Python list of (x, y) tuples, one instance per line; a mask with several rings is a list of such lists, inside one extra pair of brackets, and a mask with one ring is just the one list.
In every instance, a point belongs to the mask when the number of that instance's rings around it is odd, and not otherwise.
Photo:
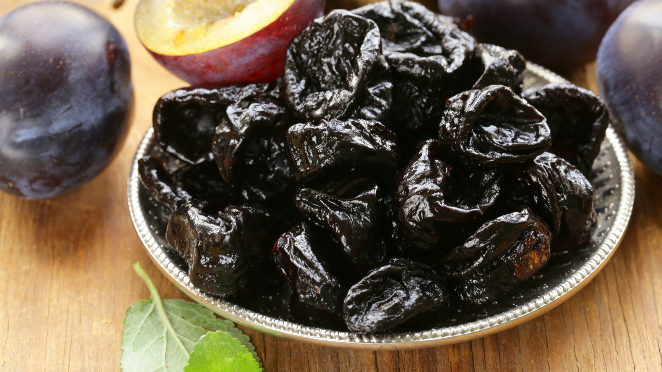
[(161, 97), (152, 115), (156, 141), (177, 158), (189, 163), (211, 159), (214, 129), (228, 105), (245, 94), (267, 93), (267, 84), (188, 87)]

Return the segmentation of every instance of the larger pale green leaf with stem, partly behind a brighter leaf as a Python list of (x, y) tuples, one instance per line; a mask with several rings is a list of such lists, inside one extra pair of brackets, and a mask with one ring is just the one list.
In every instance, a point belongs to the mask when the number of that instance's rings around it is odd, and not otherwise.
[(120, 362), (122, 371), (181, 372), (193, 346), (207, 331), (228, 332), (259, 363), (260, 358), (248, 336), (232, 322), (216, 318), (213, 312), (196, 302), (162, 300), (139, 263), (134, 265), (134, 270), (147, 283), (152, 297), (138, 301), (126, 310)]

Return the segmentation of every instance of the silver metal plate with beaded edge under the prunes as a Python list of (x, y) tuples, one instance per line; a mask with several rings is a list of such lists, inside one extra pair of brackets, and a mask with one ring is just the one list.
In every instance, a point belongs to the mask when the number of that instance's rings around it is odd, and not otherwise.
[[(527, 64), (525, 87), (552, 82), (567, 83), (551, 71)], [(283, 311), (287, 293), (240, 306), (193, 287), (187, 272), (182, 269), (181, 258), (166, 249), (164, 218), (140, 184), (138, 160), (146, 155), (167, 157), (159, 146), (155, 146), (152, 128), (145, 134), (132, 163), (128, 177), (128, 204), (138, 236), (152, 261), (170, 281), (195, 301), (238, 324), (273, 336), (342, 348), (414, 349), (454, 344), (506, 330), (540, 316), (569, 299), (602, 269), (623, 238), (634, 201), (632, 163), (622, 140), (610, 126), (589, 175), (595, 191), (598, 228), (587, 248), (553, 254), (544, 269), (526, 281), (519, 291), (500, 300), (490, 312), (460, 315), (449, 319), (448, 324), (422, 332), (361, 335), (288, 321), (286, 309)]]

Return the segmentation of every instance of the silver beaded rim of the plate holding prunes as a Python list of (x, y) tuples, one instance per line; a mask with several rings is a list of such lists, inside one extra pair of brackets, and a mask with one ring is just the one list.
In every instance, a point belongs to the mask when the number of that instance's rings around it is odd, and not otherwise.
[[(526, 68), (535, 75), (552, 83), (568, 83), (563, 77), (536, 64), (527, 62)], [(565, 281), (545, 291), (545, 293), (532, 301), (474, 322), (444, 328), (433, 328), (422, 332), (365, 335), (354, 334), (352, 332), (339, 332), (324, 328), (303, 326), (294, 322), (266, 316), (233, 304), (232, 302), (224, 301), (193, 287), (187, 273), (171, 261), (164, 251), (164, 247), (157, 242), (140, 205), (140, 197), (138, 195), (138, 189), (140, 187), (138, 160), (146, 154), (153, 134), (154, 130), (150, 126), (140, 142), (138, 150), (136, 150), (136, 156), (132, 162), (127, 182), (128, 207), (131, 220), (152, 261), (156, 263), (162, 273), (179, 287), (181, 291), (223, 318), (266, 334), (321, 346), (355, 349), (428, 348), (473, 340), (506, 330), (536, 316), (540, 316), (555, 306), (558, 306), (561, 302), (569, 299), (579, 289), (589, 283), (598, 271), (604, 267), (616, 251), (616, 248), (618, 248), (625, 234), (634, 203), (634, 173), (632, 162), (630, 162), (624, 142), (616, 134), (612, 126), (609, 126), (605, 138), (610, 142), (614, 150), (616, 159), (618, 160), (617, 171), (620, 171), (621, 176), (621, 197), (618, 203), (618, 210), (614, 218), (614, 223), (608, 230), (608, 234), (604, 237), (600, 247), (573, 275), (569, 275)]]

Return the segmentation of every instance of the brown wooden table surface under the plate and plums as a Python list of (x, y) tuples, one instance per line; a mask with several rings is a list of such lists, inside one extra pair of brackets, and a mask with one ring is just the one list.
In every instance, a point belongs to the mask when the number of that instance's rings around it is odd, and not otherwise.
[[(117, 159), (50, 200), (0, 195), (1, 371), (119, 371), (124, 312), (149, 297), (140, 261), (165, 298), (184, 297), (134, 231), (126, 176), (162, 94), (185, 85), (142, 48), (138, 0), (79, 0), (105, 15), (131, 52), (136, 111)], [(365, 0), (345, 0), (357, 4)], [(0, 1), (0, 15), (26, 3)], [(434, 1), (428, 1), (434, 3)], [(594, 65), (569, 76), (596, 90)], [(272, 371), (659, 371), (662, 369), (662, 177), (634, 161), (636, 202), (624, 241), (575, 297), (504, 332), (432, 349), (320, 348), (245, 329)]]

